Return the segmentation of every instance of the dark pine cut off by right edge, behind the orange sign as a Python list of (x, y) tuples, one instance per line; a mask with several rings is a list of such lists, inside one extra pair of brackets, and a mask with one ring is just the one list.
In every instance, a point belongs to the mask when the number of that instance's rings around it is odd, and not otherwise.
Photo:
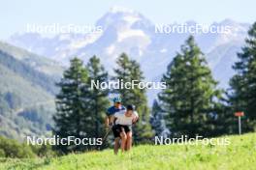
[(229, 97), (233, 112), (245, 113), (243, 131), (251, 131), (256, 129), (256, 22), (248, 31), (238, 57), (239, 61), (233, 66), (237, 74), (230, 81)]

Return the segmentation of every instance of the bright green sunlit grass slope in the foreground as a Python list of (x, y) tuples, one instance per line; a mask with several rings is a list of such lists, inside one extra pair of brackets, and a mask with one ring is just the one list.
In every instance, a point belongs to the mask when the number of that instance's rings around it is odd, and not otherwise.
[[(224, 136), (226, 137), (226, 136)], [(228, 146), (137, 146), (114, 156), (112, 150), (55, 158), (2, 160), (0, 169), (46, 170), (253, 170), (256, 167), (256, 133), (228, 136)]]

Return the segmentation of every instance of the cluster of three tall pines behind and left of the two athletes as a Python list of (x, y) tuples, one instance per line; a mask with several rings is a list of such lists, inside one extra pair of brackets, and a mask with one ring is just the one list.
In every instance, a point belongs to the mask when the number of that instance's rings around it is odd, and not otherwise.
[[(145, 96), (145, 89), (109, 89), (91, 88), (91, 81), (107, 82), (110, 79), (122, 79), (130, 82), (134, 79), (143, 81), (140, 65), (123, 53), (117, 59), (115, 76), (110, 76), (100, 63), (100, 59), (93, 56), (83, 66), (82, 61), (75, 57), (71, 60), (70, 68), (63, 73), (63, 78), (57, 83), (60, 92), (56, 96), (56, 111), (53, 120), (54, 134), (61, 138), (75, 136), (76, 138), (101, 138), (105, 134), (104, 118), (110, 106), (109, 95), (120, 95), (123, 104), (135, 104), (142, 118), (134, 130), (136, 141), (145, 142), (152, 136), (149, 124), (149, 108)], [(108, 142), (108, 141), (107, 141)], [(57, 146), (63, 153), (70, 151), (84, 151), (96, 149), (95, 146), (70, 145)]]

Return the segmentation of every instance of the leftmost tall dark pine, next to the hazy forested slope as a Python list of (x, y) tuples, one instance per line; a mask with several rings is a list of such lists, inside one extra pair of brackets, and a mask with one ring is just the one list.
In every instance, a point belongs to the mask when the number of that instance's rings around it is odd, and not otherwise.
[[(71, 66), (64, 71), (63, 78), (57, 83), (60, 88), (59, 94), (56, 96), (56, 111), (53, 116), (55, 127), (53, 133), (60, 138), (75, 136), (77, 138), (84, 137), (82, 118), (84, 115), (85, 102), (82, 93), (84, 85), (88, 79), (88, 72), (83, 68), (82, 61), (78, 58), (71, 60)], [(72, 144), (57, 145), (58, 150), (63, 153), (71, 151), (82, 151), (82, 146)]]

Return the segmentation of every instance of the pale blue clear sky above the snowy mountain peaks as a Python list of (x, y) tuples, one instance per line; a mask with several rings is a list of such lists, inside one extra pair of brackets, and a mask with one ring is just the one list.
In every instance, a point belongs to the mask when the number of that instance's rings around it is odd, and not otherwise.
[(22, 32), (27, 23), (93, 25), (113, 6), (135, 10), (154, 23), (256, 21), (254, 0), (0, 0), (0, 4), (1, 40)]

